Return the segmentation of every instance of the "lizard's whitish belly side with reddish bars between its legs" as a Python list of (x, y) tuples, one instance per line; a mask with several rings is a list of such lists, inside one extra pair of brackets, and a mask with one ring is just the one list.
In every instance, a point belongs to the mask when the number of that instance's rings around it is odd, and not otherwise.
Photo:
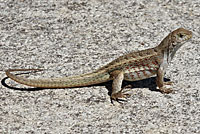
[(149, 78), (156, 74), (156, 70), (125, 70), (124, 71), (124, 80), (127, 81), (136, 81)]

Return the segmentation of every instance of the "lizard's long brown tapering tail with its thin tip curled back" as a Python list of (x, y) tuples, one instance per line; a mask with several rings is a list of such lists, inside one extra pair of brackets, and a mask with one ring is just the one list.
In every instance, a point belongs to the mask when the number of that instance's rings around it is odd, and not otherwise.
[(42, 69), (6, 70), (6, 75), (12, 80), (27, 86), (38, 87), (38, 88), (81, 87), (81, 86), (99, 84), (111, 80), (110, 74), (106, 71), (97, 71), (77, 76), (69, 76), (63, 78), (49, 78), (49, 79), (27, 79), (11, 73), (15, 71), (42, 71)]

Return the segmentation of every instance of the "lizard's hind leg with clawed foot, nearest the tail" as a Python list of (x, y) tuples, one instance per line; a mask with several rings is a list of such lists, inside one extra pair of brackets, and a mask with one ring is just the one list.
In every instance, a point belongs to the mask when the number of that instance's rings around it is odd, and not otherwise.
[(119, 98), (130, 96), (130, 94), (123, 92), (123, 89), (121, 88), (124, 79), (124, 72), (116, 70), (111, 73), (111, 76), (113, 77), (111, 99), (117, 100)]

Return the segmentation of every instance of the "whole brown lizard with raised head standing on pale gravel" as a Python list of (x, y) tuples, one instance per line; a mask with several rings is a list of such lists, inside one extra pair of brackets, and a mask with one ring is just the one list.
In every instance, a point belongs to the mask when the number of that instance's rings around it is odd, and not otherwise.
[(191, 31), (183, 28), (176, 29), (154, 48), (120, 56), (92, 73), (78, 76), (27, 79), (11, 73), (13, 71), (37, 71), (40, 69), (8, 69), (6, 75), (18, 83), (38, 88), (81, 87), (113, 80), (111, 99), (114, 100), (129, 95), (121, 88), (123, 80), (136, 81), (156, 75), (156, 84), (159, 90), (162, 93), (170, 93), (172, 90), (166, 88), (165, 85), (171, 85), (172, 82), (164, 82), (165, 70), (176, 51), (191, 37)]

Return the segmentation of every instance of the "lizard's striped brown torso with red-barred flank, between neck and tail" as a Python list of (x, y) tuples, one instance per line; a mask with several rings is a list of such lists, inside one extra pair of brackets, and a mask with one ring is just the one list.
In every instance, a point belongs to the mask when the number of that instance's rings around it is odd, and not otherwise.
[(155, 47), (120, 56), (109, 64), (99, 68), (96, 72), (101, 70), (108, 72), (123, 70), (125, 80), (136, 81), (155, 75), (161, 62), (162, 54)]

